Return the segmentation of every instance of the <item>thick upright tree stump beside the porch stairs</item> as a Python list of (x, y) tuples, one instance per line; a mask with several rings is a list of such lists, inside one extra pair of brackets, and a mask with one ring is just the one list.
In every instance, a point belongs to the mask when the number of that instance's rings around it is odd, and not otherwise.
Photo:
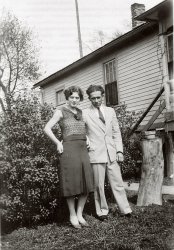
[(162, 139), (156, 137), (155, 131), (146, 131), (144, 135), (142, 140), (143, 163), (137, 205), (162, 205), (164, 175)]

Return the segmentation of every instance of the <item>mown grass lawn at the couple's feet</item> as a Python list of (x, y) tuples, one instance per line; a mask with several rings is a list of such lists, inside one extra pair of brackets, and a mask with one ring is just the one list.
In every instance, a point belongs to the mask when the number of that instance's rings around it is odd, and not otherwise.
[(133, 209), (131, 218), (121, 217), (110, 202), (108, 221), (101, 222), (95, 218), (93, 202), (89, 202), (85, 210), (89, 228), (74, 229), (68, 220), (18, 228), (2, 236), (2, 250), (173, 250), (173, 201), (164, 201), (163, 206), (136, 207), (136, 197), (132, 196), (129, 202)]

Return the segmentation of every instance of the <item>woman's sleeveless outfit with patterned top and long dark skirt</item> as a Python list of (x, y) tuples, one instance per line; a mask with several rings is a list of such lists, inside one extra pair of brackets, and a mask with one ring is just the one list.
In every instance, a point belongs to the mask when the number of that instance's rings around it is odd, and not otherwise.
[(86, 146), (85, 123), (82, 111), (74, 114), (61, 109), (60, 127), (63, 135), (63, 154), (60, 157), (60, 185), (62, 196), (75, 196), (93, 192), (93, 172)]

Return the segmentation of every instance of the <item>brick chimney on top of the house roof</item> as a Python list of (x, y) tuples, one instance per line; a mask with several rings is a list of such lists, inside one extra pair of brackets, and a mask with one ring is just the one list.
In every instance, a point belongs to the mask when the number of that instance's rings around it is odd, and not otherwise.
[(131, 13), (132, 13), (132, 28), (135, 28), (141, 24), (143, 24), (143, 21), (137, 21), (134, 18), (139, 16), (145, 12), (145, 5), (144, 4), (139, 4), (139, 3), (134, 3), (131, 5)]

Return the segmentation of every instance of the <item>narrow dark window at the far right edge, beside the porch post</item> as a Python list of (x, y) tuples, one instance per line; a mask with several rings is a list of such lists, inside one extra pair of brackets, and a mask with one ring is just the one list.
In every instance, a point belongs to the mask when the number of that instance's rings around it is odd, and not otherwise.
[(168, 57), (169, 79), (172, 79), (173, 78), (173, 27), (168, 29), (168, 34), (167, 34), (167, 57)]

